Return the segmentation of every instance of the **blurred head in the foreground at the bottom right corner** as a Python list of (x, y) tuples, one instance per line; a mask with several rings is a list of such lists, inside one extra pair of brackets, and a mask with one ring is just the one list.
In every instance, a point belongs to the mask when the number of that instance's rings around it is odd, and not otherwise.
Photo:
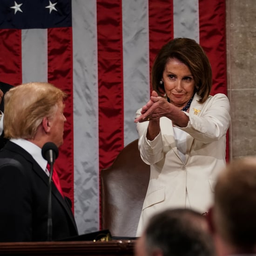
[(256, 255), (256, 157), (227, 165), (208, 217), (218, 256)]

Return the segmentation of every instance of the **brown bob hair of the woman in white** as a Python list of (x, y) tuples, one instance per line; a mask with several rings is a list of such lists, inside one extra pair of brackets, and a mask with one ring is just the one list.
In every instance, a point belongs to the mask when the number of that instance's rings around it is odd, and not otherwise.
[(171, 58), (176, 58), (189, 67), (195, 81), (196, 93), (200, 97), (199, 102), (205, 102), (212, 87), (212, 70), (204, 50), (193, 39), (175, 38), (161, 48), (151, 70), (153, 89), (159, 95), (165, 93), (164, 85), (159, 82), (162, 80), (165, 65)]

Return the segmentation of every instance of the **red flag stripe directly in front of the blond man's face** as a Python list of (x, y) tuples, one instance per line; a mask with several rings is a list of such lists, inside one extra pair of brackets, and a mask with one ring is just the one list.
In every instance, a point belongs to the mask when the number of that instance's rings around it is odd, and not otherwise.
[[(65, 101), (67, 118), (64, 144), (59, 148), (55, 168), (60, 176), (65, 195), (74, 202), (74, 147), (73, 147), (73, 51), (72, 28), (48, 29), (48, 82), (61, 88), (69, 96)], [(74, 206), (74, 203), (73, 203)]]

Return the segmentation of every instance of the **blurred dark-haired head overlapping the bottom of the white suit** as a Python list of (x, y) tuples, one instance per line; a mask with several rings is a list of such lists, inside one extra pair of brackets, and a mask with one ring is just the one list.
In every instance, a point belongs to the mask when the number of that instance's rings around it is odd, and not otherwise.
[(215, 256), (205, 216), (192, 209), (155, 214), (136, 241), (135, 256)]

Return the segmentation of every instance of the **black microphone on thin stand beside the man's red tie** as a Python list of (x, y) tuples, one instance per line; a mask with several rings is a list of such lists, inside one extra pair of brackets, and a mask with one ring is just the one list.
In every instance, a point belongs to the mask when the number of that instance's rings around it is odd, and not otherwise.
[(53, 142), (46, 142), (42, 147), (42, 156), (50, 164), (49, 191), (48, 191), (48, 218), (47, 218), (47, 241), (52, 241), (52, 176), (54, 161), (59, 155), (59, 149)]

